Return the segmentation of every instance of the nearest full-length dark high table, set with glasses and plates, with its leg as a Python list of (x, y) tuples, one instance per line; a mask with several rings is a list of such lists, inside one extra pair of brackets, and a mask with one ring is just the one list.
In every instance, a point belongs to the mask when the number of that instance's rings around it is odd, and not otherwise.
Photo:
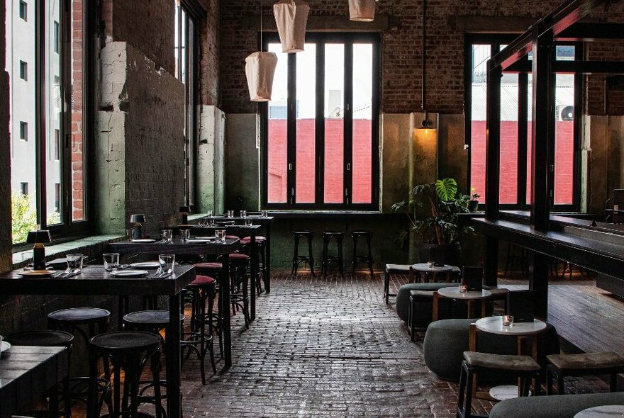
[[(195, 278), (194, 266), (177, 266), (172, 276), (162, 279), (116, 278), (105, 271), (104, 266), (85, 266), (81, 274), (70, 278), (22, 277), (20, 272), (21, 270), (16, 270), (0, 275), (0, 295), (166, 295), (169, 297), (169, 335), (179, 335), (182, 331), (179, 320), (175, 320), (180, 315), (180, 292)], [(224, 341), (225, 329), (224, 325)], [(229, 342), (230, 334), (227, 335)], [(182, 366), (179, 338), (168, 338), (165, 349), (169, 409), (167, 416), (181, 418)]]

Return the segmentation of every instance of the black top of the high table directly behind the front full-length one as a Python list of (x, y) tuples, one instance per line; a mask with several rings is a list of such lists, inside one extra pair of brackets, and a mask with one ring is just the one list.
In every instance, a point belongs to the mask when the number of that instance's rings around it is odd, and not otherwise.
[(182, 242), (179, 238), (173, 242), (132, 242), (121, 241), (108, 244), (109, 252), (119, 254), (181, 254), (181, 255), (221, 255), (235, 252), (239, 246), (239, 239), (225, 239), (223, 243)]

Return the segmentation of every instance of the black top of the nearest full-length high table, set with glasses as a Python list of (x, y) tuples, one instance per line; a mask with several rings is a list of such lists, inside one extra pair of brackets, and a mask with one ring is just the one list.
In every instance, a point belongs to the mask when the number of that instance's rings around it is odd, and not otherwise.
[(117, 278), (104, 266), (85, 266), (69, 278), (23, 277), (22, 270), (0, 274), (4, 295), (177, 295), (195, 279), (195, 266), (176, 266), (167, 278)]

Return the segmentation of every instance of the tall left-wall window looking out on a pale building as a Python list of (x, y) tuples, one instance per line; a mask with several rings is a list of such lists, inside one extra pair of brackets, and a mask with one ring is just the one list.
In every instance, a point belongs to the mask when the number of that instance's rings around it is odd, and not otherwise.
[(5, 5), (13, 243), (86, 232), (87, 0)]

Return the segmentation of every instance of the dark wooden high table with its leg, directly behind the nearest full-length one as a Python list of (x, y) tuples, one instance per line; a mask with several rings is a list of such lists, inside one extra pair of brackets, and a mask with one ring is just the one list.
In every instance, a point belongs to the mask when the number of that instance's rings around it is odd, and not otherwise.
[[(179, 239), (174, 242), (153, 242), (138, 243), (131, 241), (111, 242), (108, 244), (109, 252), (118, 252), (119, 254), (179, 254), (179, 255), (223, 255), (235, 252), (240, 247), (240, 239), (225, 239), (224, 243), (207, 242), (207, 243), (189, 243), (180, 242)], [(219, 286), (221, 289), (230, 288), (230, 264), (228, 257), (223, 257), (223, 268), (219, 275)], [(193, 275), (195, 276), (195, 275)], [(186, 287), (190, 282), (184, 284)], [(180, 290), (182, 290), (180, 288)], [(255, 296), (255, 295), (254, 295)], [(221, 292), (221, 312), (230, 312), (230, 292)], [(179, 297), (178, 297), (179, 305)], [(171, 307), (169, 307), (169, 310)], [(176, 317), (172, 315), (172, 317)], [(232, 366), (232, 332), (230, 326), (230, 315), (223, 315), (221, 319), (223, 327), (223, 359), (225, 368)]]

